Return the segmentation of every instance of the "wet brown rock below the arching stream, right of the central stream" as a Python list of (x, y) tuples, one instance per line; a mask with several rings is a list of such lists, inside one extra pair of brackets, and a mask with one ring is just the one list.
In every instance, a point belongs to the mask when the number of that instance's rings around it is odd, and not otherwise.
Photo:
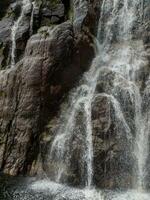
[(99, 94), (92, 103), (94, 183), (101, 188), (128, 188), (132, 184), (132, 136), (119, 104)]

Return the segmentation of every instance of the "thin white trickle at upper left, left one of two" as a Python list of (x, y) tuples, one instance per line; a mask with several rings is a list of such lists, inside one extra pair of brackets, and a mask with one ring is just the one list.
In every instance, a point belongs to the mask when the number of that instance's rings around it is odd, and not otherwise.
[(15, 58), (16, 58), (16, 34), (19, 30), (20, 24), (23, 22), (23, 18), (25, 15), (26, 8), (31, 4), (30, 0), (22, 0), (21, 14), (19, 18), (14, 22), (14, 25), (11, 28), (11, 67), (15, 66)]

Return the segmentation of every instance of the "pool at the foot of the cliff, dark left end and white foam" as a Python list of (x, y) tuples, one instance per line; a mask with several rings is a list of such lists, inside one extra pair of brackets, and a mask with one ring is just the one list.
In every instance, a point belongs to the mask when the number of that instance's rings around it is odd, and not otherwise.
[(2, 200), (149, 200), (150, 193), (137, 190), (79, 189), (47, 179), (0, 177)]

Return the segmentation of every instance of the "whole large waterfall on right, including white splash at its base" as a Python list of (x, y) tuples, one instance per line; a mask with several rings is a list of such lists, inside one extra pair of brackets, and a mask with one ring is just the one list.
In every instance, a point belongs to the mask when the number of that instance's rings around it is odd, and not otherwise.
[[(82, 6), (83, 1), (80, 1), (80, 3)], [(106, 132), (108, 131), (108, 134), (111, 134), (109, 129), (113, 126), (112, 129), (114, 130), (112, 132), (115, 132), (112, 133), (115, 135), (113, 139), (116, 139), (117, 142), (118, 138), (120, 142), (125, 140), (123, 145), (127, 146), (126, 148), (130, 146), (127, 151), (125, 149), (125, 152), (119, 152), (121, 154), (121, 156), (119, 155), (121, 161), (119, 161), (124, 164), (123, 160), (128, 162), (127, 158), (130, 157), (132, 159), (131, 164), (134, 163), (133, 166), (128, 165), (132, 168), (129, 170), (133, 173), (129, 174), (131, 175), (129, 178), (132, 178), (132, 189), (135, 189), (135, 194), (133, 192), (135, 197), (133, 199), (137, 200), (140, 190), (146, 189), (146, 162), (149, 151), (150, 126), (149, 113), (143, 113), (145, 100), (142, 96), (143, 88), (141, 82), (143, 80), (140, 73), (143, 67), (147, 65), (147, 55), (143, 41), (136, 39), (133, 34), (137, 23), (142, 23), (142, 7), (142, 0), (103, 0), (98, 32), (94, 39), (96, 47), (95, 58), (90, 69), (84, 73), (77, 87), (72, 89), (68, 99), (63, 103), (58, 119), (58, 129), (54, 131), (52, 136), (48, 158), (46, 157), (46, 161), (48, 161), (46, 164), (48, 163), (47, 165), (49, 165), (48, 177), (50, 177), (50, 180), (38, 182), (33, 187), (47, 187), (52, 191), (52, 194), (57, 193), (60, 199), (62, 196), (73, 199), (76, 196), (75, 193), (79, 196), (82, 193), (82, 196), (84, 192), (83, 199), (102, 199), (101, 193), (97, 194), (96, 190), (93, 190), (95, 181), (95, 146), (93, 144), (95, 141), (93, 142), (92, 106), (97, 97), (104, 97), (108, 101), (108, 112), (105, 114), (109, 115)], [(33, 12), (34, 8), (32, 9), (32, 15)], [(33, 23), (32, 17), (31, 24)], [(113, 75), (114, 79), (112, 78), (110, 86), (105, 87), (103, 85), (103, 88), (97, 91), (99, 81), (105, 79), (107, 71)], [(103, 82), (103, 84), (105, 83)], [(121, 90), (124, 93), (121, 93)], [(132, 107), (132, 113), (128, 110), (129, 106)], [(111, 138), (107, 139), (111, 140)], [(128, 157), (127, 154), (131, 156)], [(80, 181), (77, 184), (84, 185), (84, 189), (81, 190), (67, 186), (70, 183), (69, 179), (74, 181), (74, 174), (72, 173), (74, 161), (75, 165), (77, 165), (75, 176)], [(109, 173), (106, 169), (106, 166), (102, 169), (104, 174)], [(79, 176), (81, 177), (78, 177), (78, 171), (80, 171)], [(119, 179), (121, 178), (119, 177)], [(73, 193), (70, 193), (72, 191)], [(73, 194), (73, 198), (71, 194)], [(128, 191), (127, 194), (115, 195), (110, 195), (111, 197), (109, 196), (108, 199), (127, 199), (128, 195), (132, 199), (132, 191)], [(140, 193), (140, 195), (148, 199), (147, 194)], [(77, 197), (77, 199), (82, 199), (82, 197)]]

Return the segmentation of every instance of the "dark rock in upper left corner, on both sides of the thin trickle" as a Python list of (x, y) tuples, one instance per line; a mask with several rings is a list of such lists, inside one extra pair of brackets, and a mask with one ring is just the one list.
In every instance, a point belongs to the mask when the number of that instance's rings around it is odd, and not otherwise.
[[(8, 1), (9, 2), (9, 1)], [(13, 2), (7, 4), (7, 11), (5, 16), (0, 21), (0, 69), (5, 69), (9, 66), (11, 58), (11, 46), (12, 46), (12, 34), (11, 29), (13, 27), (14, 21), (20, 15), (21, 12), (21, 2)], [(29, 38), (30, 29), (30, 12), (31, 6), (29, 6), (24, 14), (23, 21), (20, 22), (21, 26), (16, 34), (16, 61), (20, 60), (23, 56), (24, 49)]]

